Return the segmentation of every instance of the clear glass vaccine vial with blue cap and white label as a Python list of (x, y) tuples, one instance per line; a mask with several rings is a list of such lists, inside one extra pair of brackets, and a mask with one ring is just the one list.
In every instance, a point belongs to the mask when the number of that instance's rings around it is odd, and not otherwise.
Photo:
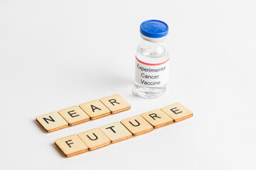
[(143, 98), (157, 98), (166, 91), (169, 79), (169, 52), (164, 40), (169, 27), (159, 20), (144, 21), (140, 25), (142, 42), (135, 56), (134, 94)]

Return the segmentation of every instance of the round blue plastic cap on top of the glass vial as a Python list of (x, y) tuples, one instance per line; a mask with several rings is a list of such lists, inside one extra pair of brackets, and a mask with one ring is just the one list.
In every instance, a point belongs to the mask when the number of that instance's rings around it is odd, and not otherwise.
[(159, 20), (144, 21), (140, 26), (140, 33), (149, 38), (162, 38), (168, 34), (169, 27)]

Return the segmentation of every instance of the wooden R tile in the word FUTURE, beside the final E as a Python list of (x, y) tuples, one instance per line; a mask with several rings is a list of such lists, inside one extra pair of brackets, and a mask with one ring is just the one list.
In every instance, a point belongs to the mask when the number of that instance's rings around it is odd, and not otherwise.
[(166, 113), (164, 113), (160, 109), (142, 113), (141, 115), (155, 129), (173, 123), (173, 119), (170, 118), (169, 115), (166, 115)]

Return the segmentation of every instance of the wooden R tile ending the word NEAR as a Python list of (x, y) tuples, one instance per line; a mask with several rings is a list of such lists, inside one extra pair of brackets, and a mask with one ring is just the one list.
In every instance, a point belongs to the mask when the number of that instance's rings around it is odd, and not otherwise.
[(131, 108), (130, 104), (119, 94), (101, 98), (100, 101), (110, 109), (112, 114), (127, 111)]

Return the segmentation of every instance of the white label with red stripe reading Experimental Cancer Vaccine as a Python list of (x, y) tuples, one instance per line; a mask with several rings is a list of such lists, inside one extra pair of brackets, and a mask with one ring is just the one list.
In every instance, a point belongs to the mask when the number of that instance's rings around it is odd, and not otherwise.
[(169, 79), (169, 59), (158, 64), (149, 64), (136, 57), (135, 80), (146, 87), (158, 87)]

